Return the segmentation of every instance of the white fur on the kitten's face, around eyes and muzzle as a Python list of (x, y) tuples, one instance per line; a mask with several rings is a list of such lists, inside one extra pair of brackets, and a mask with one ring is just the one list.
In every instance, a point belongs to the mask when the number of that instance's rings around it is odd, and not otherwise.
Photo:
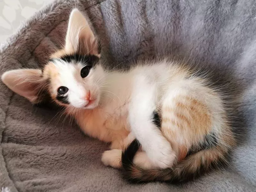
[[(98, 66), (91, 69), (86, 78), (80, 75), (81, 69), (86, 66), (84, 63), (67, 63), (63, 60), (55, 59), (54, 66), (58, 71), (58, 76), (52, 82), (52, 92), (56, 92), (60, 86), (68, 87), (68, 92), (63, 96), (68, 96), (69, 103), (75, 108), (94, 108), (99, 103), (99, 88), (94, 84), (99, 76), (102, 76), (103, 69)], [(95, 100), (90, 106), (86, 106), (89, 101), (86, 100), (88, 92), (91, 93), (91, 99)]]

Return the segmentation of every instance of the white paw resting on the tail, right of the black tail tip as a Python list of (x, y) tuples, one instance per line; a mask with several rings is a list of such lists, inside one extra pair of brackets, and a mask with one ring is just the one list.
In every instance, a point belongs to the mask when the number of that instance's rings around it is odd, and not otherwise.
[(152, 141), (152, 145), (146, 150), (146, 153), (152, 164), (162, 169), (172, 167), (177, 159), (175, 151), (165, 138)]

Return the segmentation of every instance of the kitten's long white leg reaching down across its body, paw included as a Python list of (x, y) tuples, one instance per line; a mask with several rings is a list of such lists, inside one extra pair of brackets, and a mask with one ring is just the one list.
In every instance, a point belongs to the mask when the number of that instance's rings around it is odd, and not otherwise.
[(134, 79), (136, 84), (132, 91), (129, 108), (131, 132), (156, 167), (172, 167), (176, 161), (176, 153), (154, 122), (158, 102), (158, 85), (148, 76), (141, 74)]

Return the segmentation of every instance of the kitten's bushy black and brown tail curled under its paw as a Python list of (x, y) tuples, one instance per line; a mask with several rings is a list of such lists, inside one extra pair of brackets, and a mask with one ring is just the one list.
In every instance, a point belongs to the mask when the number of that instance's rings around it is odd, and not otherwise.
[(228, 164), (229, 150), (226, 147), (212, 147), (198, 151), (167, 169), (142, 169), (132, 163), (139, 148), (134, 140), (122, 153), (123, 176), (130, 182), (170, 181), (185, 182), (205, 172)]

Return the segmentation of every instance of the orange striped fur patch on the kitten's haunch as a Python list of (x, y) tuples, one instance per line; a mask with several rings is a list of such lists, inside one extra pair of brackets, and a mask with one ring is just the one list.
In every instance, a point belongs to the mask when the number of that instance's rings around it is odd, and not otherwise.
[(206, 105), (195, 98), (178, 96), (173, 102), (174, 106), (162, 107), (161, 131), (171, 143), (177, 143), (180, 161), (186, 157), (193, 143), (199, 142), (211, 131), (212, 121)]

